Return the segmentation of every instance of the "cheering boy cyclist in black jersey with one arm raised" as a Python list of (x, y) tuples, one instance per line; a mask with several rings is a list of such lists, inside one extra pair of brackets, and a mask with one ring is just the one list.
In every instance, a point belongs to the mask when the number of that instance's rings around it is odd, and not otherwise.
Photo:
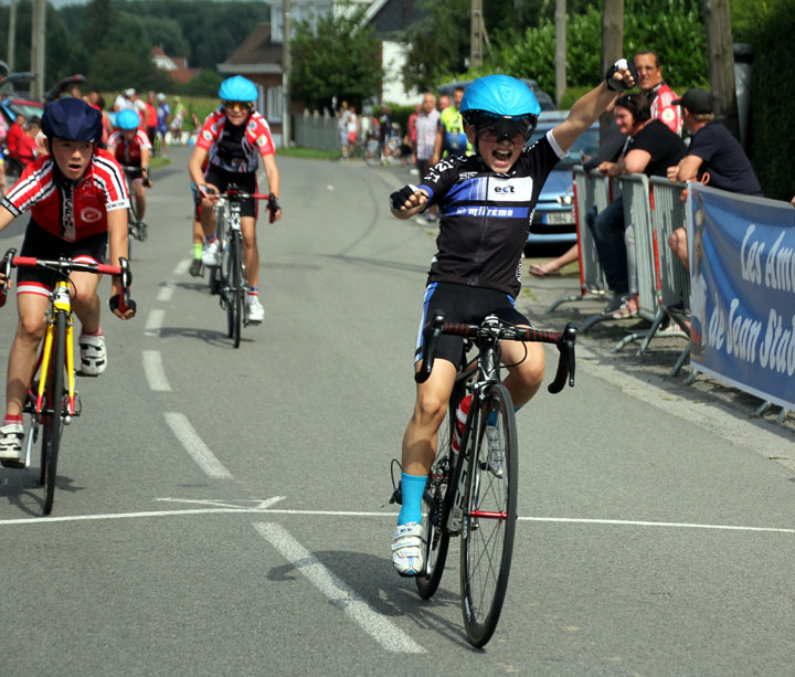
[[(529, 148), (526, 144), (541, 112), (530, 88), (508, 75), (488, 75), (469, 85), (460, 112), (475, 155), (447, 157), (430, 169), (418, 187), (406, 186), (390, 197), (392, 213), (399, 219), (410, 219), (431, 204), (438, 204), (441, 213), (438, 251), (431, 263), (414, 353), (416, 369), (423, 351), (422, 328), (437, 309), (454, 322), (480, 322), (494, 314), (509, 324), (530, 326), (515, 299), (541, 188), (616, 92), (636, 82), (634, 68), (619, 60), (604, 82), (572, 106), (565, 120)], [(401, 575), (423, 572), (422, 496), (462, 351), (463, 339), (442, 336), (431, 377), (417, 385), (414, 413), (403, 436), (403, 504), (392, 544), (392, 563)], [(501, 359), (509, 371), (505, 384), (513, 404), (521, 408), (541, 384), (543, 348), (506, 341)], [(491, 454), (490, 469), (500, 474), (499, 449), (492, 447)]]

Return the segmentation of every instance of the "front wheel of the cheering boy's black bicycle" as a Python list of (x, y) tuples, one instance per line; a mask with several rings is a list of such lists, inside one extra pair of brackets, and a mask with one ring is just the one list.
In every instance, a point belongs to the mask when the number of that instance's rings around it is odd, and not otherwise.
[(484, 646), (502, 610), (517, 519), (516, 417), (502, 383), (489, 387), (478, 414), (470, 433), (475, 437), (466, 477), (460, 586), (467, 637)]

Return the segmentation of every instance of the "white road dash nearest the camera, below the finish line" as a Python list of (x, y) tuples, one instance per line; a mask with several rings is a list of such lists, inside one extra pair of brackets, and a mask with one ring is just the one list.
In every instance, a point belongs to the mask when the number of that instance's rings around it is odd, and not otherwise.
[(388, 652), (424, 654), (425, 649), (406, 635), (392, 621), (373, 610), (351, 588), (324, 567), (317, 558), (295, 540), (283, 527), (269, 522), (254, 525), (297, 571), (303, 573), (335, 606), (340, 607)]

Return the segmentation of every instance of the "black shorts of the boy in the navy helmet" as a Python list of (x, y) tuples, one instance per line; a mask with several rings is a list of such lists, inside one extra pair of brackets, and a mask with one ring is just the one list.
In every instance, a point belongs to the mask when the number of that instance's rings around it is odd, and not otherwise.
[[(56, 237), (31, 219), (25, 231), (20, 256), (32, 256), (54, 261), (71, 258), (85, 263), (105, 263), (107, 232), (89, 235), (77, 242)], [(47, 296), (55, 286), (59, 275), (44, 268), (17, 268), (17, 294), (40, 294)]]

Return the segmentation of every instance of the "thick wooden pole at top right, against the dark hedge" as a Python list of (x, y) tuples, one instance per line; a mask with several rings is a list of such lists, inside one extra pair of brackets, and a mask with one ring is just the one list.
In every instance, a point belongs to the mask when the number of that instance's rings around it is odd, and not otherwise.
[(729, 0), (703, 0), (710, 87), (716, 113), (736, 139), (740, 138), (736, 89), (734, 84), (734, 46), (731, 36)]

